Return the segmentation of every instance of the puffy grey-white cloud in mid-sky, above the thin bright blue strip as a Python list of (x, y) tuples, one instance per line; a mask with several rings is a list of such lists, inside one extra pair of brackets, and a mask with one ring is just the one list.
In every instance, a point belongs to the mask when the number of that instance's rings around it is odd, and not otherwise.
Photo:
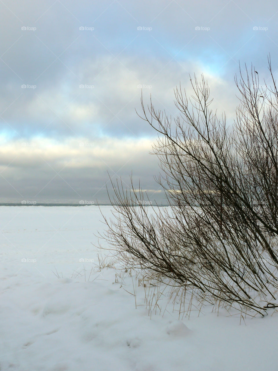
[[(193, 66), (192, 61), (187, 61), (178, 66), (174, 62), (165, 66), (160, 60), (152, 60), (143, 70), (133, 58), (123, 60), (125, 66), (111, 63), (112, 58), (109, 59), (104, 57), (97, 63), (93, 60), (82, 62), (78, 67), (82, 71), (82, 84), (61, 78), (47, 88), (41, 85), (34, 88), (20, 86), (17, 95), (10, 96), (10, 104), (7, 95), (1, 101), (1, 110), (4, 111), (1, 127), (29, 138), (38, 135), (59, 138), (72, 135), (97, 137), (105, 134), (136, 138), (152, 135), (152, 129), (135, 112), (135, 108), (138, 112), (141, 110), (141, 92), (146, 104), (152, 96), (157, 109), (165, 109), (167, 114), (174, 116), (177, 113), (174, 89), (181, 82), (190, 92), (189, 72), (192, 74), (194, 71), (199, 77), (203, 72), (208, 79), (215, 97), (214, 108), (225, 109), (229, 116), (235, 110), (235, 95), (231, 100), (231, 95), (226, 93), (229, 89), (235, 92), (235, 87), (230, 87), (223, 78), (207, 73), (200, 64)], [(101, 66), (107, 68), (98, 75)]]

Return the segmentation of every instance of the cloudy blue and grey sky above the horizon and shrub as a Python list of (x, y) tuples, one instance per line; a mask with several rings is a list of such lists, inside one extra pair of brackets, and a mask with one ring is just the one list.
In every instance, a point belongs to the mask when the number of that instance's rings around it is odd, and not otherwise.
[(203, 73), (232, 123), (239, 62), (277, 76), (277, 1), (0, 0), (0, 20), (0, 203), (107, 203), (131, 174), (163, 203), (141, 93), (175, 117)]

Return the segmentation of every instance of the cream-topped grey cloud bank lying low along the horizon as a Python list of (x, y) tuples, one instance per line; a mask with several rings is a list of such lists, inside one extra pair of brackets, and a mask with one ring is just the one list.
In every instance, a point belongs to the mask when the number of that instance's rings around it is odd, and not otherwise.
[(2, 138), (0, 188), (3, 197), (17, 201), (46, 201), (59, 196), (64, 201), (86, 197), (108, 202), (109, 175), (113, 181), (122, 178), (128, 186), (133, 171), (135, 184), (140, 178), (154, 193), (159, 186), (152, 175), (159, 168), (157, 158), (149, 154), (151, 149), (150, 139), (88, 142), (86, 138), (71, 138), (53, 142), (34, 138), (30, 142), (5, 142)]

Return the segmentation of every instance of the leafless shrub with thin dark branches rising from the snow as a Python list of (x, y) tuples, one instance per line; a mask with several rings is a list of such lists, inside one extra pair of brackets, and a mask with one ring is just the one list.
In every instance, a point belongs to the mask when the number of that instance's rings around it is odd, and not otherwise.
[[(194, 94), (175, 90), (179, 116), (142, 103), (141, 118), (158, 133), (158, 184), (168, 208), (146, 207), (132, 184), (113, 184), (114, 219), (102, 236), (126, 267), (193, 288), (202, 301), (264, 315), (277, 306), (278, 92), (240, 70), (236, 121), (210, 108), (205, 79)], [(251, 312), (252, 313), (252, 312)]]

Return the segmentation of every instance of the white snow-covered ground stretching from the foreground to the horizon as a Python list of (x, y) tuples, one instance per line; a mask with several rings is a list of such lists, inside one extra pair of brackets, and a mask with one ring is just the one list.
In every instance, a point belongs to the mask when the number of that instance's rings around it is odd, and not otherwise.
[(278, 370), (277, 311), (178, 320), (165, 289), (150, 316), (155, 288), (99, 271), (101, 219), (96, 206), (0, 207), (1, 371)]

